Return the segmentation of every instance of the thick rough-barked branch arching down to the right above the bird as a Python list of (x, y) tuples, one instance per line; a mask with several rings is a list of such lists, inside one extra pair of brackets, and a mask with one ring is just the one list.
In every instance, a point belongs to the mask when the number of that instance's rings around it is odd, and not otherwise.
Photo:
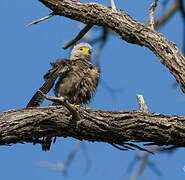
[[(72, 0), (39, 0), (54, 14), (65, 16), (85, 24), (110, 28), (133, 44), (149, 48), (173, 74), (185, 92), (185, 57), (174, 43), (162, 34), (134, 20), (127, 13), (97, 4)], [(124, 48), (124, 47), (123, 47)]]

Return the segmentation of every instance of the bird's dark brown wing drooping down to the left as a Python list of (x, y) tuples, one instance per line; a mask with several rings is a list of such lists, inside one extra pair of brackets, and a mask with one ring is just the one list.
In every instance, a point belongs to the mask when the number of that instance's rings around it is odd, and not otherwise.
[[(57, 65), (53, 66), (53, 69), (51, 69), (47, 74), (48, 77), (46, 78), (46, 82), (42, 85), (41, 88), (39, 88), (40, 91), (42, 91), (43, 94), (47, 94), (51, 88), (53, 87), (56, 79), (59, 77), (61, 74), (65, 74), (69, 71), (69, 66), (65, 65)], [(40, 91), (37, 91), (34, 96), (31, 98), (29, 103), (27, 104), (26, 107), (37, 107), (40, 106), (42, 101), (44, 100), (42, 93)]]

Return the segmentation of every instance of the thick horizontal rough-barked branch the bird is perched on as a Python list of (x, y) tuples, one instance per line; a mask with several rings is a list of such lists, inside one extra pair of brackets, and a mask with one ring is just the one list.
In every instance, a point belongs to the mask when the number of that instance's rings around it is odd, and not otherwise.
[(35, 142), (45, 135), (123, 144), (127, 141), (185, 146), (185, 117), (138, 111), (79, 108), (75, 120), (62, 106), (35, 107), (0, 115), (0, 144)]

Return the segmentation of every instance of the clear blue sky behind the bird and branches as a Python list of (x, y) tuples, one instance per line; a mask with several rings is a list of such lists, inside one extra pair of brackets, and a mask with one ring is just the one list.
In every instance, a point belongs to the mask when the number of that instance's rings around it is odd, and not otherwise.
[[(96, 2), (110, 4), (109, 0)], [(117, 7), (140, 22), (148, 18), (151, 2), (115, 0)], [(49, 63), (69, 55), (69, 50), (63, 50), (61, 46), (79, 32), (79, 23), (76, 21), (56, 16), (26, 27), (26, 24), (50, 12), (37, 0), (0, 1), (1, 113), (9, 109), (24, 108), (44, 82), (42, 76), (50, 68)], [(159, 31), (182, 49), (183, 23), (180, 13), (176, 13)], [(90, 32), (93, 37), (99, 33), (98, 28)], [(100, 84), (93, 100), (93, 109), (138, 109), (136, 95), (143, 94), (150, 112), (185, 115), (184, 94), (179, 87), (172, 87), (174, 77), (149, 49), (128, 44), (120, 40), (119, 36), (112, 35), (101, 53), (100, 65), (101, 78), (110, 87), (121, 91), (116, 91), (115, 98)], [(43, 105), (47, 105), (47, 102)], [(40, 145), (2, 146), (0, 179), (64, 179), (62, 173), (40, 167), (38, 163), (64, 162), (76, 142), (72, 138), (57, 138), (50, 152), (42, 152)], [(130, 160), (139, 152), (121, 152), (105, 143), (85, 142), (85, 147), (92, 161), (91, 169), (86, 172), (87, 161), (81, 149), (69, 168), (68, 180), (121, 179)], [(184, 149), (181, 148), (172, 154), (155, 154), (150, 160), (162, 172), (160, 179), (185, 179), (184, 157)], [(138, 165), (139, 163), (134, 170)], [(150, 180), (159, 178), (148, 167), (145, 169), (145, 176)]]

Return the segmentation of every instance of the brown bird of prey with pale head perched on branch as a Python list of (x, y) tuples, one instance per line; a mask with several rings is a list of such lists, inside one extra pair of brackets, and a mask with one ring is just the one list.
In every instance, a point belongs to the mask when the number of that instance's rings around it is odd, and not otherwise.
[[(47, 94), (54, 86), (54, 93), (57, 97), (67, 97), (69, 103), (74, 105), (87, 104), (97, 88), (100, 69), (91, 64), (91, 49), (88, 43), (80, 43), (74, 46), (70, 59), (60, 59), (51, 63), (52, 68), (44, 75), (46, 80), (39, 89)], [(29, 101), (27, 107), (39, 106), (43, 96), (37, 91)], [(52, 137), (44, 137), (42, 150), (50, 149)]]

